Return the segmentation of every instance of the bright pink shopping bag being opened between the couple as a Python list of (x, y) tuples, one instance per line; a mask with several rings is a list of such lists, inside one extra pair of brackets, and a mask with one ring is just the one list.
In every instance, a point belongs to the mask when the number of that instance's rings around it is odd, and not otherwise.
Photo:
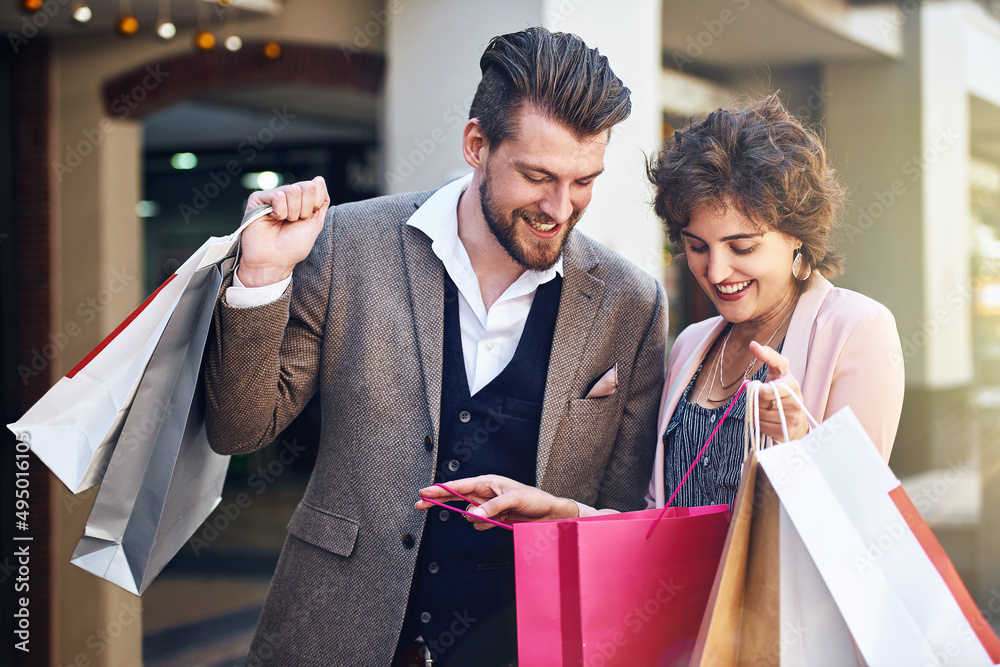
[(521, 667), (687, 664), (729, 507), (661, 513), (514, 525)]

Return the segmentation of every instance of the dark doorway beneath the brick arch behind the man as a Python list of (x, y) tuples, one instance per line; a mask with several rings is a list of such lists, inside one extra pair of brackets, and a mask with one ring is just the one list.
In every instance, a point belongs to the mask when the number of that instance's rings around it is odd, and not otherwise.
[[(282, 44), (270, 59), (261, 46), (184, 54), (102, 87), (107, 114), (142, 122), (145, 293), (230, 232), (252, 190), (322, 175), (334, 204), (380, 194), (382, 58)], [(143, 594), (144, 664), (242, 664), (318, 427), (310, 404), (277, 442), (232, 459), (219, 507)]]

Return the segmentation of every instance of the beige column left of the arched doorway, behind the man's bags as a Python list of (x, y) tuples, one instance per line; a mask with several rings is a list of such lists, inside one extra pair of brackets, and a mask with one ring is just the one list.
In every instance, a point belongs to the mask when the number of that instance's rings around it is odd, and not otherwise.
[[(59, 60), (51, 159), (54, 196), (53, 325), (68, 344), (53, 360), (52, 382), (72, 368), (142, 300), (140, 135), (134, 121), (112, 121), (100, 107), (86, 62)], [(96, 489), (73, 496), (54, 481), (53, 637), (58, 664), (139, 664), (142, 603), (70, 564)]]

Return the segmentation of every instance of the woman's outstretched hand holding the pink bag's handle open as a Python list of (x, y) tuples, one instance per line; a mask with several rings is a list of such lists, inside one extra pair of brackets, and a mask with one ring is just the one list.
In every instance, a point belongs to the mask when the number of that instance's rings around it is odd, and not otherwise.
[[(542, 521), (545, 519), (571, 519), (579, 515), (576, 503), (568, 498), (559, 498), (541, 489), (515, 482), (499, 475), (481, 475), (448, 482), (454, 489), (470, 500), (480, 503), (479, 507), (469, 507), (468, 512), (500, 522)], [(448, 493), (440, 486), (420, 489), (422, 498), (430, 498), (439, 503), (462, 500)], [(424, 500), (417, 501), (418, 510), (435, 507)], [(466, 517), (476, 530), (489, 530), (493, 524)]]

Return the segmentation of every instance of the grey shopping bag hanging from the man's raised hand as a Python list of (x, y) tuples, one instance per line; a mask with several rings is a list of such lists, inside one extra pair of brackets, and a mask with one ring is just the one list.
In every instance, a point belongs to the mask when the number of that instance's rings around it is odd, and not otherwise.
[(223, 271), (198, 269), (149, 360), (71, 562), (141, 595), (218, 505), (229, 457), (205, 434), (198, 375)]

